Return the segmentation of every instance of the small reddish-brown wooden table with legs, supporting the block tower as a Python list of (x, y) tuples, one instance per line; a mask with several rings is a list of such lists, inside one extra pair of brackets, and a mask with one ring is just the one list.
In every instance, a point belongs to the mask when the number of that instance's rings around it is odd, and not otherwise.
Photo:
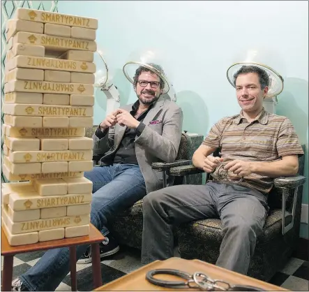
[(72, 291), (76, 291), (76, 246), (84, 244), (91, 244), (93, 288), (96, 289), (102, 285), (99, 243), (103, 240), (104, 236), (100, 233), (100, 231), (90, 224), (90, 233), (87, 236), (80, 236), (78, 238), (63, 238), (61, 240), (50, 240), (35, 244), (24, 244), (18, 247), (11, 247), (10, 244), (8, 244), (6, 234), (1, 228), (1, 256), (3, 256), (1, 291), (11, 291), (12, 289), (13, 258), (15, 254), (24, 254), (25, 252), (47, 249), (58, 249), (61, 247), (69, 247), (70, 249), (70, 279)]

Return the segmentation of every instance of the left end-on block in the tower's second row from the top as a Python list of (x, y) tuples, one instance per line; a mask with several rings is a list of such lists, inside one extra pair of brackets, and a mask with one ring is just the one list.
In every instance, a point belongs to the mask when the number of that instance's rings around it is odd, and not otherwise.
[(15, 36), (18, 31), (26, 31), (29, 33), (43, 34), (44, 24), (40, 22), (32, 22), (27, 20), (8, 20), (6, 22), (6, 40)]

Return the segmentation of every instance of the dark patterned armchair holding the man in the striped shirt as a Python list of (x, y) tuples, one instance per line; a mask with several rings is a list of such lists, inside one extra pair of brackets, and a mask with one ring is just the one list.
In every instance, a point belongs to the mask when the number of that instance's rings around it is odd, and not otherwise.
[[(305, 149), (305, 145), (303, 145)], [(284, 267), (299, 238), (304, 156), (299, 158), (299, 173), (296, 177), (279, 177), (269, 194), (269, 216), (264, 231), (257, 239), (255, 254), (251, 259), (248, 275), (269, 281)], [(171, 168), (169, 175), (183, 177), (202, 173), (193, 165)], [(210, 179), (207, 175), (206, 179)], [(216, 263), (219, 256), (222, 225), (220, 219), (205, 219), (183, 224), (177, 228), (181, 258), (198, 258)]]

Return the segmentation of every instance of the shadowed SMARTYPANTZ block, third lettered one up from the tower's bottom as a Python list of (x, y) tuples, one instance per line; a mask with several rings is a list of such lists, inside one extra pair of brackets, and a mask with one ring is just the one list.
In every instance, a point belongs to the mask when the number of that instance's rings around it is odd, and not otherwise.
[[(56, 162), (44, 162), (44, 163), (56, 163)], [(49, 166), (50, 167), (50, 166)], [(43, 163), (42, 163), (43, 168)], [(13, 181), (19, 181), (19, 180), (49, 180), (51, 178), (63, 178), (63, 177), (83, 177), (83, 172), (65, 172), (65, 173), (36, 173), (32, 175), (26, 175), (26, 174), (20, 174), (20, 175), (13, 175), (10, 173), (10, 170), (8, 170), (8, 167), (3, 164), (2, 166), (3, 175), (10, 180)]]

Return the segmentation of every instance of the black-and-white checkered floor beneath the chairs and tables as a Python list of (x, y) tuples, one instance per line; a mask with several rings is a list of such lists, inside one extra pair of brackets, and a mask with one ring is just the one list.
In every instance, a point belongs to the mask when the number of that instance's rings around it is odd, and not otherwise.
[[(20, 254), (14, 258), (13, 278), (15, 279), (35, 265), (45, 251), (29, 254)], [(111, 282), (123, 275), (140, 268), (140, 251), (135, 249), (121, 248), (121, 250), (101, 262), (103, 284)], [(3, 261), (1, 258), (1, 271)], [(77, 289), (78, 291), (91, 291), (91, 263), (77, 265)], [(271, 284), (282, 286), (292, 291), (308, 291), (309, 262), (299, 258), (291, 258), (285, 268), (271, 279)], [(70, 275), (67, 275), (56, 291), (70, 291)]]

